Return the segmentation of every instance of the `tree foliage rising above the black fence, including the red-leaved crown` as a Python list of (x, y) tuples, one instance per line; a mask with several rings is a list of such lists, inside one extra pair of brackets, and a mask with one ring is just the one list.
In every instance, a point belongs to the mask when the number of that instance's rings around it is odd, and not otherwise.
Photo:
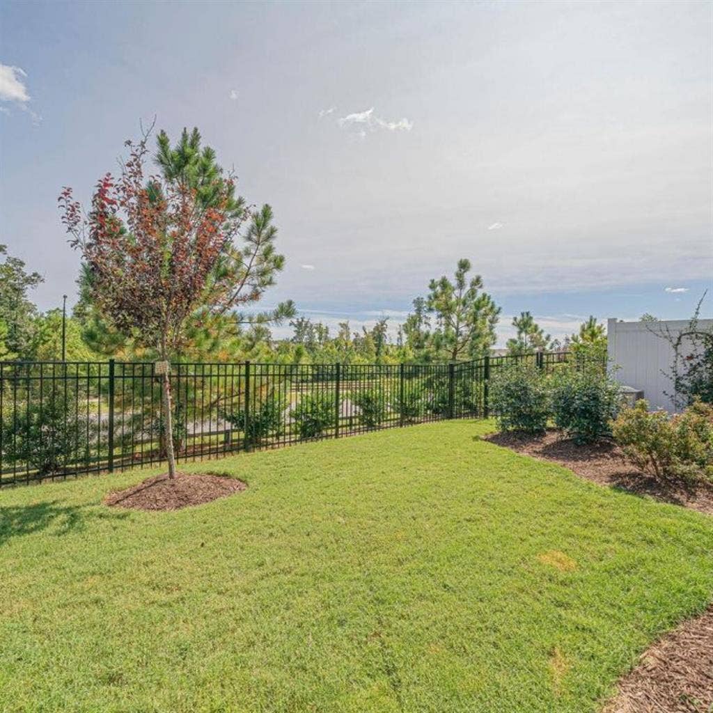
[[(403, 323), (389, 329), (327, 325), (294, 302), (256, 309), (284, 267), (272, 208), (249, 207), (235, 176), (222, 169), (200, 133), (165, 131), (128, 141), (120, 175), (107, 173), (84, 210), (66, 188), (63, 224), (81, 255), (78, 302), (66, 320), (66, 358), (278, 363), (399, 363), (477, 359), (496, 345), (501, 307), (471, 262), (434, 278)], [(149, 165), (151, 164), (151, 165)], [(59, 359), (61, 309), (41, 313), (31, 291), (43, 277), (0, 246), (0, 358)], [(272, 327), (292, 336), (275, 339)], [(605, 353), (602, 324), (551, 339), (530, 312), (513, 318), (507, 352), (591, 348)]]

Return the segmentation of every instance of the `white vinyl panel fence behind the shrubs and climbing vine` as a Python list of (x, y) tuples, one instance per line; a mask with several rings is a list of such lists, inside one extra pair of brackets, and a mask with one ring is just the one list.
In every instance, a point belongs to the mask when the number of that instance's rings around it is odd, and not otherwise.
[[(665, 392), (671, 394), (673, 384), (667, 379), (674, 360), (674, 349), (667, 339), (658, 336), (668, 329), (675, 337), (687, 329), (687, 319), (666, 322), (607, 322), (607, 351), (614, 377), (620, 384), (644, 391), (644, 398), (652, 409), (675, 411)], [(713, 327), (713, 319), (699, 319), (699, 329)]]

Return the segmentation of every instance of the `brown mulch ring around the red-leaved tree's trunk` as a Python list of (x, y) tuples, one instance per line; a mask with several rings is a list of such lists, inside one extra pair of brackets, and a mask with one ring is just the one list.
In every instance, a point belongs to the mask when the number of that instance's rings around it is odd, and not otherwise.
[(192, 505), (210, 503), (217, 498), (227, 498), (247, 488), (247, 484), (228, 476), (210, 473), (176, 473), (173, 481), (167, 473), (126, 490), (109, 493), (104, 502), (116, 508), (135, 510), (180, 510)]

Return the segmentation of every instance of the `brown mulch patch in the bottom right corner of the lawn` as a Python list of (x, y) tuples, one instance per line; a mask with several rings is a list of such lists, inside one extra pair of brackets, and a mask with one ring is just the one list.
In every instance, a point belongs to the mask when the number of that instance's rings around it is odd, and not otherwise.
[(684, 622), (622, 678), (604, 713), (709, 713), (713, 710), (713, 607)]

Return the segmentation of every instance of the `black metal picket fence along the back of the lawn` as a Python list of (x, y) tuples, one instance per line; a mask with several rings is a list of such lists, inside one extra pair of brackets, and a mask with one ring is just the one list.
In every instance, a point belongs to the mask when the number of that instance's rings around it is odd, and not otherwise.
[[(179, 461), (364, 431), (488, 416), (494, 370), (551, 371), (568, 354), (458, 364), (173, 364)], [(0, 362), (0, 486), (165, 460), (154, 364)]]

